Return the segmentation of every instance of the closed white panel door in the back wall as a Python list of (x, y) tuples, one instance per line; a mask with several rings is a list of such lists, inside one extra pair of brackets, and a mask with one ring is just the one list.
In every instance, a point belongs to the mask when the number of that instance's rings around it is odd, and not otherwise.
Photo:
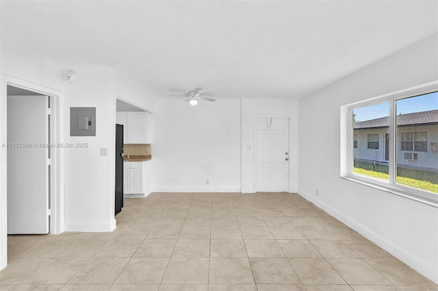
[(255, 191), (288, 191), (289, 119), (257, 117), (255, 132)]

